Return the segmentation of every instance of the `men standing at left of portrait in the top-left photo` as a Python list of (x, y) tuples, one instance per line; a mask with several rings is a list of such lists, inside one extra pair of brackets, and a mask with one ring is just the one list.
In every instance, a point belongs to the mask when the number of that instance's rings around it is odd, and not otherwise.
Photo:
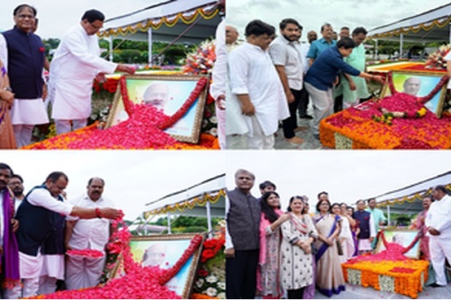
[[(15, 137), (15, 144), (0, 144), (0, 148), (21, 148), (31, 143), (34, 125), (49, 123), (44, 100), (52, 104), (51, 117), (58, 134), (86, 126), (93, 79), (105, 81), (105, 74), (114, 71), (134, 72), (133, 68), (99, 57), (96, 33), (105, 15), (97, 10), (87, 11), (81, 22), (64, 34), (49, 65), (41, 38), (33, 33), (36, 14), (31, 5), (17, 6), (14, 28), (0, 35), (3, 77), (9, 78), (3, 86), (14, 94), (10, 114)], [(50, 70), (49, 87), (42, 75), (44, 67)]]

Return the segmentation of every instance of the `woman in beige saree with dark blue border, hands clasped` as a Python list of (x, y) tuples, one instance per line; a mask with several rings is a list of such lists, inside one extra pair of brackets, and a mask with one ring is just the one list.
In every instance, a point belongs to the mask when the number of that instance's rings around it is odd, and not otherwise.
[(345, 278), (338, 257), (336, 241), (340, 234), (340, 217), (330, 214), (331, 205), (328, 200), (320, 200), (317, 204), (319, 214), (313, 217), (318, 231), (317, 287), (327, 296), (345, 291)]

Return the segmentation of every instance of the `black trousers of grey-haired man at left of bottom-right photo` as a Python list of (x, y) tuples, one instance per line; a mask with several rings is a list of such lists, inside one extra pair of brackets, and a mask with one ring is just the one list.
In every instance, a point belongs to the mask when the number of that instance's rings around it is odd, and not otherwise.
[(226, 298), (253, 299), (257, 288), (259, 250), (235, 250), (234, 259), (226, 259)]

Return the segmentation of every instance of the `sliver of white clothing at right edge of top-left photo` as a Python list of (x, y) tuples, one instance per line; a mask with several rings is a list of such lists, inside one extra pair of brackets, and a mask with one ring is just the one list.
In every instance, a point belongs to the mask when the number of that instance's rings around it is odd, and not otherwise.
[(219, 95), (226, 95), (227, 48), (226, 21), (223, 20), (216, 29), (216, 62), (213, 68), (213, 83), (210, 86), (211, 96), (216, 100)]

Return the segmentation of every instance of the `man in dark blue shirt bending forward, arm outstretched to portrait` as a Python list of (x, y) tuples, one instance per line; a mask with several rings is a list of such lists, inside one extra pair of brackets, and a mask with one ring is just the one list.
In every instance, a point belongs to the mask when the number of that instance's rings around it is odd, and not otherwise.
[(319, 139), (319, 123), (334, 113), (332, 86), (338, 82), (340, 70), (352, 76), (374, 79), (382, 85), (384, 83), (381, 76), (361, 72), (343, 61), (343, 58), (353, 52), (354, 47), (353, 39), (343, 38), (336, 43), (336, 46), (324, 50), (314, 64), (308, 68), (304, 81), (308, 95), (311, 96), (316, 108), (312, 130), (317, 139)]

